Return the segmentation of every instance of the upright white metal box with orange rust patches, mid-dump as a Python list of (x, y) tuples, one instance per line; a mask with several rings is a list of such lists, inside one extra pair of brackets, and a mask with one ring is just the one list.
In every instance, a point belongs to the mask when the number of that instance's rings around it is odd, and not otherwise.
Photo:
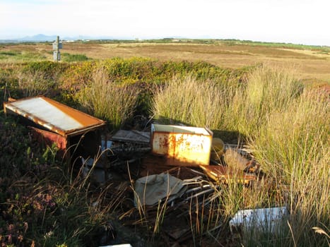
[(152, 124), (151, 150), (155, 155), (163, 155), (165, 164), (208, 165), (212, 137), (207, 128)]

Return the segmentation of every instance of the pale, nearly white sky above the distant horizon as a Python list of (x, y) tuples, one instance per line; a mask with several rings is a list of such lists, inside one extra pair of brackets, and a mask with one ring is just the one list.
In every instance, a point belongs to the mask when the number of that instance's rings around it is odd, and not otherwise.
[(330, 46), (330, 1), (0, 0), (0, 40), (37, 34)]

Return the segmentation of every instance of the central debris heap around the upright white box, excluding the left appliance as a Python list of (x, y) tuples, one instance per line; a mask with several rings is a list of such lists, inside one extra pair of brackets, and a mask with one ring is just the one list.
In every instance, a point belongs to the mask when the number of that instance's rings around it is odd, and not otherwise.
[[(151, 124), (150, 131), (120, 130), (102, 141), (102, 154), (107, 157), (106, 169), (98, 162), (85, 163), (97, 183), (115, 183), (118, 174), (127, 174), (117, 179), (118, 191), (112, 195), (126, 198), (119, 219), (136, 226), (143, 218), (157, 226), (164, 213), (167, 246), (191, 239), (189, 221), (199, 222), (202, 215), (201, 224), (207, 223), (221, 184), (250, 186), (262, 174), (248, 150), (213, 138), (207, 128)], [(242, 212), (237, 214), (230, 222), (233, 232), (245, 218)], [(219, 221), (208, 232), (220, 227)]]

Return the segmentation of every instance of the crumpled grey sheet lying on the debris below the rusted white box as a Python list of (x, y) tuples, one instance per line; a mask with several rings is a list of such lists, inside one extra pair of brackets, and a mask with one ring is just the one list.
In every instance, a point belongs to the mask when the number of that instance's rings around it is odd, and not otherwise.
[(143, 176), (134, 185), (134, 203), (141, 205), (157, 205), (160, 200), (178, 197), (187, 190), (184, 181), (168, 173)]

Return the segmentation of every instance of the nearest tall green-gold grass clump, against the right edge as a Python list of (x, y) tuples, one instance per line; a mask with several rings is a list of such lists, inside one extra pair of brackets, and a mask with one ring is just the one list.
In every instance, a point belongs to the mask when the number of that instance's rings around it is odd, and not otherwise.
[(329, 98), (305, 91), (273, 111), (250, 143), (290, 210), (288, 245), (326, 246), (313, 227), (329, 226)]

